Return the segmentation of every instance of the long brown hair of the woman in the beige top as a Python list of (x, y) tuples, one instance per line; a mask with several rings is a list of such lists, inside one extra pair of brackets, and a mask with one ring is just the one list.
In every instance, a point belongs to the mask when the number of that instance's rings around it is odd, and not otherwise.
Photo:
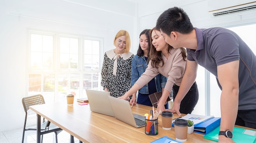
[[(149, 32), (150, 33), (150, 37), (149, 37), (150, 38), (150, 52), (149, 52), (148, 59), (151, 60), (151, 66), (152, 67), (158, 68), (159, 63), (162, 63), (162, 66), (164, 66), (164, 59), (162, 58), (162, 51), (157, 51), (154, 48), (154, 45), (152, 44), (151, 34), (152, 34), (153, 30), (157, 30), (157, 29), (154, 27)], [(157, 31), (159, 31), (159, 30), (157, 30)], [(168, 44), (168, 48), (167, 48), (168, 53), (170, 53), (170, 51), (172, 49), (173, 49), (173, 47)], [(186, 61), (186, 50), (185, 50), (185, 48), (180, 48), (180, 50), (181, 50), (181, 53), (182, 53), (183, 60)]]

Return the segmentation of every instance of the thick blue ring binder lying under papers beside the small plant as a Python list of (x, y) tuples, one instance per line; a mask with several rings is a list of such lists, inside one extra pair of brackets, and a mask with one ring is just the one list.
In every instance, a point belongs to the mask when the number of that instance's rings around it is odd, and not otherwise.
[(200, 124), (196, 124), (194, 126), (194, 132), (197, 132), (200, 134), (208, 134), (218, 126), (220, 126), (220, 117), (215, 117), (207, 121), (204, 121)]

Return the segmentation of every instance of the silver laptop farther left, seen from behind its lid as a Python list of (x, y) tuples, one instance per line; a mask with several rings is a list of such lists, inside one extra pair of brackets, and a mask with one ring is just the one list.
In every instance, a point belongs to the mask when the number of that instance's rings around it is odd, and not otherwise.
[(85, 91), (86, 91), (90, 109), (92, 112), (115, 117), (115, 114), (112, 111), (112, 107), (108, 99), (108, 96), (110, 96), (110, 93), (105, 91), (91, 90), (91, 89), (85, 89)]

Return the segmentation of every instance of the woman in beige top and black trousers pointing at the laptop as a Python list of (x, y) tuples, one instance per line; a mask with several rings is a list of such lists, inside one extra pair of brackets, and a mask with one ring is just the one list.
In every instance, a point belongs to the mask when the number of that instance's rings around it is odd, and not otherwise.
[[(186, 70), (186, 50), (185, 48), (174, 49), (171, 45), (168, 45), (160, 31), (155, 28), (150, 30), (150, 41), (151, 48), (148, 68), (132, 88), (119, 98), (126, 100), (132, 93), (135, 93), (160, 73), (168, 79), (156, 111), (165, 111), (164, 104), (166, 104), (166, 100), (169, 98), (171, 89), (173, 88), (173, 99), (175, 100)], [(191, 113), (197, 102), (198, 88), (195, 82), (180, 104), (180, 113)]]

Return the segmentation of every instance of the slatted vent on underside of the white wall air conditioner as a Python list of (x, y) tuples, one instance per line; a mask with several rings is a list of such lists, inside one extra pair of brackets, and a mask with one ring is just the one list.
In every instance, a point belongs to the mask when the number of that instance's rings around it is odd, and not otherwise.
[(231, 13), (238, 13), (243, 11), (251, 11), (256, 10), (256, 2), (249, 2), (246, 4), (239, 4), (236, 6), (230, 6), (223, 9), (217, 9), (213, 11), (209, 11), (214, 17), (221, 16), (221, 15), (227, 15)]

